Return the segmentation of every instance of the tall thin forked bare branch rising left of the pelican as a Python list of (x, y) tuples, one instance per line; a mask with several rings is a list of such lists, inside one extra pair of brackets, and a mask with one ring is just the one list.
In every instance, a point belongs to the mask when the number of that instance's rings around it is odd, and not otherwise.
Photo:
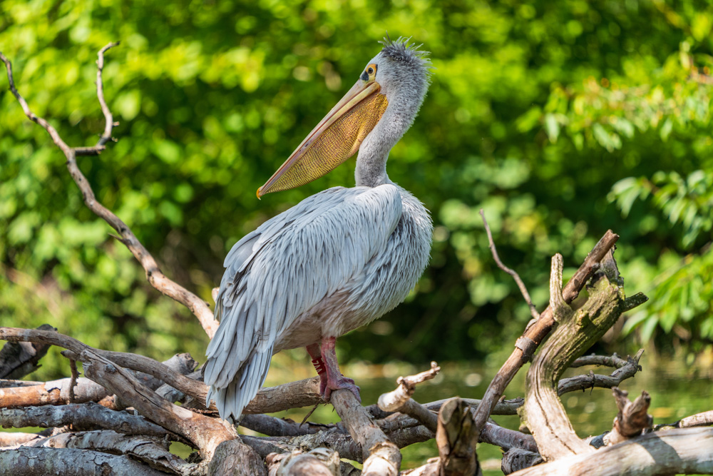
[(64, 153), (64, 156), (67, 158), (67, 168), (72, 178), (74, 179), (74, 182), (77, 184), (79, 190), (81, 191), (86, 206), (93, 213), (95, 213), (96, 216), (103, 219), (103, 221), (106, 221), (106, 223), (108, 223), (112, 228), (114, 228), (114, 230), (116, 230), (117, 233), (119, 233), (121, 243), (123, 243), (126, 248), (130, 250), (131, 254), (133, 254), (134, 258), (138, 260), (138, 262), (145, 270), (146, 279), (148, 280), (148, 282), (161, 293), (167, 295), (173, 300), (178, 301), (178, 303), (181, 303), (185, 305), (185, 307), (190, 309), (190, 311), (200, 321), (200, 325), (202, 325), (202, 328), (205, 330), (205, 333), (207, 333), (208, 337), (212, 338), (213, 335), (215, 335), (215, 330), (217, 330), (218, 323), (217, 320), (213, 318), (213, 313), (210, 310), (208, 303), (198, 298), (197, 295), (191, 293), (189, 290), (183, 288), (183, 286), (178, 285), (178, 283), (175, 283), (173, 280), (170, 280), (166, 277), (166, 275), (163, 274), (163, 272), (158, 267), (158, 263), (156, 263), (156, 260), (148, 252), (148, 250), (146, 250), (144, 245), (140, 243), (138, 238), (136, 238), (133, 231), (131, 231), (131, 229), (126, 225), (126, 223), (121, 221), (118, 216), (112, 213), (108, 208), (103, 206), (96, 199), (94, 191), (89, 185), (89, 182), (77, 166), (77, 156), (98, 155), (106, 148), (105, 144), (111, 140), (111, 131), (114, 126), (114, 123), (113, 118), (111, 116), (111, 111), (109, 111), (108, 106), (106, 106), (106, 101), (104, 101), (103, 81), (101, 78), (101, 73), (104, 66), (104, 53), (106, 53), (108, 49), (111, 49), (114, 46), (118, 46), (118, 42), (110, 43), (104, 46), (98, 53), (96, 94), (99, 99), (104, 118), (106, 120), (106, 125), (104, 128), (104, 133), (99, 138), (99, 141), (97, 142), (96, 146), (93, 147), (68, 146), (62, 140), (57, 130), (53, 128), (53, 126), (51, 126), (51, 124), (48, 123), (45, 119), (36, 116), (35, 113), (31, 111), (30, 107), (27, 104), (27, 101), (25, 101), (24, 98), (20, 96), (20, 93), (15, 87), (15, 82), (12, 76), (12, 65), (10, 63), (10, 60), (7, 59), (6, 56), (4, 56), (1, 52), (0, 60), (3, 61), (7, 69), (7, 78), (10, 84), (10, 91), (20, 103), (20, 106), (22, 107), (22, 110), (24, 111), (25, 115), (31, 121), (39, 124), (39, 126), (41, 126), (45, 131), (47, 131), (47, 133), (52, 138), (52, 141), (58, 148), (60, 148), (60, 150)]

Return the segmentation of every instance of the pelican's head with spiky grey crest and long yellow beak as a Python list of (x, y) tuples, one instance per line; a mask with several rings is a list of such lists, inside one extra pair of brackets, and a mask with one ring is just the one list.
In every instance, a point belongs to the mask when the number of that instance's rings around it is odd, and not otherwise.
[[(378, 131), (379, 143), (388, 149), (403, 136), (426, 96), (431, 61), (428, 53), (409, 44), (409, 39), (387, 38), (381, 44), (384, 47), (364, 66), (349, 92), (257, 189), (257, 198), (304, 185), (333, 171), (353, 156), (372, 132)], [(384, 127), (386, 122), (389, 127)]]

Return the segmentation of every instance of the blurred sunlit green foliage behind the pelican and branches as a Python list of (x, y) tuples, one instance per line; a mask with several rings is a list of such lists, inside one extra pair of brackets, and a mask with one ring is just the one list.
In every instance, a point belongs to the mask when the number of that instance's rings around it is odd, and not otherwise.
[[(406, 303), (339, 341), (344, 359), (482, 360), (538, 308), (549, 258), (573, 273), (607, 228), (629, 294), (614, 350), (711, 353), (713, 6), (699, 1), (24, 1), (0, 3), (0, 50), (31, 108), (73, 146), (103, 130), (96, 52), (118, 142), (78, 158), (98, 199), (171, 278), (212, 302), (222, 259), (262, 221), (354, 161), (255, 198), (391, 38), (431, 51), (433, 84), (389, 176), (436, 226)], [(0, 83), (6, 84), (6, 79)], [(145, 282), (84, 208), (63, 156), (0, 91), (0, 320), (51, 323), (89, 345), (163, 360), (207, 344), (193, 315)], [(612, 340), (610, 340), (612, 342)], [(41, 377), (65, 375), (60, 358)]]

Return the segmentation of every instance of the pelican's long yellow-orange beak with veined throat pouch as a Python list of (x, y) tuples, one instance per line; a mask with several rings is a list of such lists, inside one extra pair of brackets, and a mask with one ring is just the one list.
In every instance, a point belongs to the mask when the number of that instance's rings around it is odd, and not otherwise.
[(270, 180), (257, 189), (257, 198), (311, 182), (353, 156), (386, 111), (389, 101), (380, 90), (376, 81), (356, 81)]

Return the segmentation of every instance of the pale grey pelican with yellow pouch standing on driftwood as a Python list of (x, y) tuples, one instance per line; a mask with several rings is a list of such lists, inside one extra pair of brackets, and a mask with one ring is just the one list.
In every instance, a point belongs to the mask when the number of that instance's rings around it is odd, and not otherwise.
[(234, 422), (260, 390), (272, 355), (306, 347), (324, 400), (359, 387), (339, 370), (335, 340), (380, 318), (429, 261), (429, 211), (389, 180), (389, 151), (414, 122), (430, 82), (426, 51), (384, 39), (356, 84), (257, 190), (301, 186), (359, 151), (356, 187), (305, 198), (238, 241), (225, 258), (208, 345), (207, 402)]

